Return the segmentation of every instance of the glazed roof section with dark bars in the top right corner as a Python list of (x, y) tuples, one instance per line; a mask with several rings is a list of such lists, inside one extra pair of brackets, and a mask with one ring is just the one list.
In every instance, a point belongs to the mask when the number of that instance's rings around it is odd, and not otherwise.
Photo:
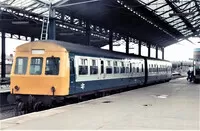
[(182, 34), (193, 33), (185, 24), (185, 21), (189, 22), (193, 27), (198, 26), (197, 22), (195, 22), (195, 20), (198, 20), (200, 18), (200, 15), (198, 14), (199, 11), (197, 9), (198, 5), (196, 5), (195, 2), (192, 0), (169, 1), (172, 4), (172, 6), (176, 8), (176, 11), (178, 10), (179, 14), (189, 13), (189, 15), (183, 15), (183, 17), (175, 15), (177, 12), (170, 7), (171, 5), (168, 5), (166, 3), (166, 0), (138, 0), (138, 1), (143, 5), (146, 5), (151, 10), (155, 10), (155, 13), (158, 15), (158, 17), (161, 18), (161, 20), (168, 22), (169, 25), (177, 29)]

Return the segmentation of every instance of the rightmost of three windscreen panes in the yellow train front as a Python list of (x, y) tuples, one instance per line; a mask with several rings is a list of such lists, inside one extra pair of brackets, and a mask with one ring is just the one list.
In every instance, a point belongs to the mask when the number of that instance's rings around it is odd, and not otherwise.
[[(59, 74), (59, 66), (60, 66), (60, 58), (48, 57), (46, 59), (45, 75), (58, 75)], [(71, 68), (73, 69), (73, 67), (71, 67)]]

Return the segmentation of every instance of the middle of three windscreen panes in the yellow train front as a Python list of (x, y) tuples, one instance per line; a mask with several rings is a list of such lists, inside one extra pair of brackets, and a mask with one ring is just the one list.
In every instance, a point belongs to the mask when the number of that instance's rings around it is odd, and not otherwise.
[(31, 58), (30, 74), (41, 75), (42, 74), (43, 58)]

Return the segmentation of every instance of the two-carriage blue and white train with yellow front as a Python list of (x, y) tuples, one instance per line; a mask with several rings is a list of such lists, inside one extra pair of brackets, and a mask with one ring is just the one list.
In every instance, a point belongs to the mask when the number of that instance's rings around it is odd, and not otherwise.
[(167, 82), (169, 61), (56, 40), (16, 48), (8, 102), (36, 110), (67, 97)]

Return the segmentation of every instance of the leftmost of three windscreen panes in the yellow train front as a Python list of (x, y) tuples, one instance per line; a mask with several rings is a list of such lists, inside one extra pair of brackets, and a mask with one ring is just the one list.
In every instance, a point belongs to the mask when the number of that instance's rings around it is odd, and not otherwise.
[(15, 74), (26, 74), (27, 62), (27, 57), (18, 57), (15, 64)]

